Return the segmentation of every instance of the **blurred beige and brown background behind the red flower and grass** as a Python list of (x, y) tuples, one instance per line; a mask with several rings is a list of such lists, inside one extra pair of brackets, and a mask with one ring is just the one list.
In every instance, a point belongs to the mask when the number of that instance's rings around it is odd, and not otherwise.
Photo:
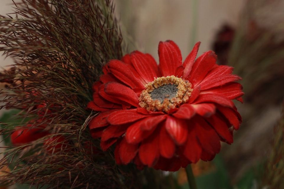
[[(0, 0), (0, 14), (12, 12)], [(243, 124), (232, 145), (222, 144), (212, 162), (193, 165), (199, 188), (284, 188), (284, 1), (283, 0), (114, 0), (125, 52), (150, 53), (159, 41), (175, 41), (183, 60), (201, 41), (199, 55), (213, 50), (218, 64), (234, 67), (245, 92), (235, 102)], [(12, 63), (0, 57), (4, 67)], [(3, 88), (4, 86), (1, 86)], [(166, 174), (166, 173), (165, 173)], [(188, 187), (183, 169), (175, 173)]]

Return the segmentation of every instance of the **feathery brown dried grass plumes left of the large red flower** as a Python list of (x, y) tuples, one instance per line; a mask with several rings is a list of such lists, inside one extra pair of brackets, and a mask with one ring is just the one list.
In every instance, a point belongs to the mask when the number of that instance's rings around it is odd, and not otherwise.
[[(6, 148), (0, 167), (12, 169), (0, 177), (1, 184), (139, 188), (134, 185), (137, 170), (117, 167), (113, 152), (102, 152), (87, 127), (95, 115), (85, 109), (92, 100), (92, 85), (102, 65), (122, 56), (112, 1), (24, 0), (14, 6), (14, 14), (0, 16), (0, 51), (15, 60), (0, 75), (7, 83), (0, 91), (1, 109), (22, 109), (17, 117), (30, 121), (21, 127), (45, 125), (51, 135)], [(9, 137), (13, 131), (11, 124), (2, 124), (1, 135)], [(57, 135), (64, 141), (45, 143)]]

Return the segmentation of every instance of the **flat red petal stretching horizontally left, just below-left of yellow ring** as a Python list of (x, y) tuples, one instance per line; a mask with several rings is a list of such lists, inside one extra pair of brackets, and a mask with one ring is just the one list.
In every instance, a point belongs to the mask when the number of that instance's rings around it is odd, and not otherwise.
[(130, 109), (113, 112), (106, 120), (112, 125), (121, 125), (137, 121), (138, 119), (142, 119), (147, 116), (148, 115), (139, 114), (136, 109)]

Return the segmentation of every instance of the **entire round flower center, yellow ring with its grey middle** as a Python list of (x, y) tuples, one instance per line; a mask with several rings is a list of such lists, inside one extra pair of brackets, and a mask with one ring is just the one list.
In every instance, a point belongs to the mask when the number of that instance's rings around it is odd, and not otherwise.
[(145, 85), (140, 94), (139, 105), (148, 111), (169, 112), (188, 101), (191, 83), (175, 76), (158, 77)]

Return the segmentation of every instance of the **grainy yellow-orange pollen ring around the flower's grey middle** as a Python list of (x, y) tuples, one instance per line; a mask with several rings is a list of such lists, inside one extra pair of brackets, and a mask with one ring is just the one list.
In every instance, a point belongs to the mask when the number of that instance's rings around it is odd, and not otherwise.
[[(176, 96), (171, 99), (165, 98), (163, 103), (159, 100), (154, 101), (149, 93), (154, 91), (155, 88), (167, 84), (177, 85), (178, 92), (176, 93)], [(140, 94), (139, 106), (148, 111), (161, 111), (166, 113), (169, 112), (170, 109), (177, 108), (181, 104), (186, 103), (193, 91), (193, 89), (191, 89), (191, 83), (173, 75), (155, 78), (154, 81), (146, 84), (145, 88), (146, 89)]]

